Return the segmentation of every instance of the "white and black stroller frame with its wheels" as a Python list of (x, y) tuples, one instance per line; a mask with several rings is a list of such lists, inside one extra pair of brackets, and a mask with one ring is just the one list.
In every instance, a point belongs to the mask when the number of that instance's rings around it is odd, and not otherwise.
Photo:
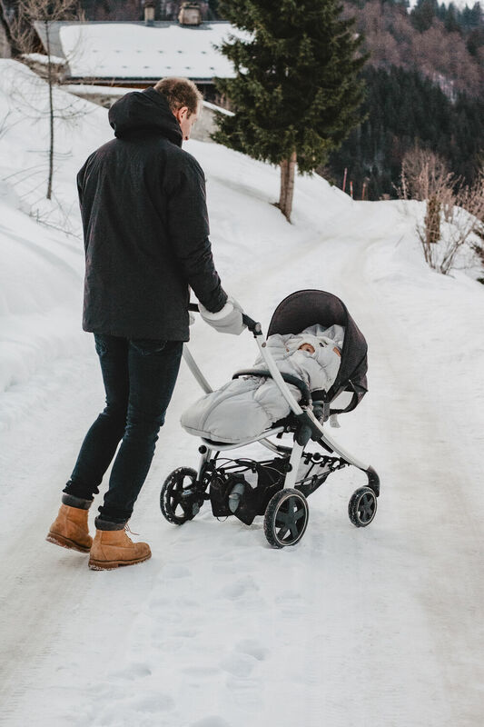
[[(190, 304), (190, 310), (198, 312), (198, 305)], [(160, 501), (163, 515), (170, 522), (177, 524), (193, 519), (199, 512), (202, 503), (211, 499), (211, 495), (206, 490), (207, 488), (210, 489), (213, 478), (218, 476), (219, 479), (222, 477), (226, 482), (229, 482), (227, 475), (231, 470), (237, 471), (235, 474), (239, 475), (239, 481), (237, 476), (235, 476), (235, 479), (232, 476), (232, 480), (230, 480), (233, 493), (229, 495), (229, 503), (232, 498), (232, 503), (230, 503), (231, 513), (224, 514), (237, 514), (237, 508), (242, 504), (243, 499), (243, 489), (237, 491), (237, 482), (243, 482), (241, 474), (244, 471), (252, 469), (255, 472), (257, 463), (250, 459), (231, 459), (229, 464), (218, 466), (219, 455), (228, 450), (240, 449), (248, 444), (261, 443), (266, 449), (281, 457), (282, 466), (284, 467), (282, 473), (280, 473), (276, 492), (273, 493), (264, 511), (264, 531), (268, 542), (272, 546), (282, 548), (285, 545), (293, 545), (301, 540), (309, 516), (306, 497), (315, 492), (325, 482), (329, 474), (349, 465), (355, 466), (364, 472), (368, 479), (367, 486), (359, 488), (351, 495), (348, 511), (351, 523), (357, 527), (366, 527), (376, 514), (377, 498), (380, 495), (378, 474), (370, 464), (364, 463), (353, 456), (327, 433), (324, 424), (330, 417), (331, 402), (312, 401), (311, 393), (305, 383), (294, 376), (281, 373), (277, 368), (270, 348), (267, 346), (265, 336), (262, 334), (262, 325), (245, 314), (243, 314), (243, 323), (252, 332), (267, 370), (242, 370), (235, 373), (233, 378), (242, 375), (272, 377), (282, 396), (289, 404), (291, 414), (281, 423), (274, 424), (271, 429), (265, 430), (260, 435), (237, 443), (216, 442), (202, 438), (202, 445), (199, 447), (201, 458), (198, 471), (195, 472), (195, 470), (183, 467), (179, 468), (171, 473), (163, 484)], [(193, 373), (193, 377), (201, 386), (202, 391), (212, 393), (212, 387), (203, 376), (186, 344), (183, 345), (183, 359), (191, 373)], [(296, 385), (301, 390), (301, 403), (294, 398), (288, 383)], [(338, 391), (331, 401), (334, 401), (341, 391)], [(283, 433), (293, 433), (291, 447), (271, 441), (270, 437), (282, 439)], [(311, 441), (321, 447), (322, 454), (305, 453), (305, 447)], [(301, 459), (304, 459), (304, 462), (309, 464), (310, 468), (309, 472), (298, 480)], [(316, 473), (311, 474), (312, 470), (315, 470)], [(188, 487), (183, 486), (185, 476), (188, 476), (190, 480)], [(233, 487), (233, 483), (235, 483), (235, 487)], [(185, 513), (188, 506), (189, 514), (186, 517), (175, 516), (175, 507), (178, 504), (182, 505), (183, 513)], [(240, 519), (245, 522), (243, 517), (240, 517)], [(252, 519), (250, 522), (252, 522)]]

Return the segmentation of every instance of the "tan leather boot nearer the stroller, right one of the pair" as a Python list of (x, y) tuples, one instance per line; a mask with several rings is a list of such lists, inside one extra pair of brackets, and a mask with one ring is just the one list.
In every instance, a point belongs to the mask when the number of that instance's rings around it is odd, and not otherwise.
[(133, 543), (122, 530), (96, 529), (89, 567), (93, 571), (111, 571), (120, 565), (143, 563), (152, 557), (148, 543)]

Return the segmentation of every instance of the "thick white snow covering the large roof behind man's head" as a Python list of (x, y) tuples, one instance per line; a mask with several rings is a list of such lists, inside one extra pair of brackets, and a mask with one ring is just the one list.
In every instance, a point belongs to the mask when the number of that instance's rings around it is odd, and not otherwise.
[(71, 78), (232, 77), (232, 63), (214, 45), (220, 45), (231, 34), (244, 37), (240, 30), (223, 22), (197, 27), (114, 22), (59, 26)]

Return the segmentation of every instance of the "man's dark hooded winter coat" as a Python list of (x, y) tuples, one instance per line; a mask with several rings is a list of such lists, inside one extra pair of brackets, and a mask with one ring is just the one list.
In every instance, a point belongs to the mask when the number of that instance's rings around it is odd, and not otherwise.
[(205, 179), (153, 88), (109, 112), (113, 141), (77, 175), (84, 226), (84, 331), (188, 341), (189, 288), (212, 313), (227, 300), (208, 239)]

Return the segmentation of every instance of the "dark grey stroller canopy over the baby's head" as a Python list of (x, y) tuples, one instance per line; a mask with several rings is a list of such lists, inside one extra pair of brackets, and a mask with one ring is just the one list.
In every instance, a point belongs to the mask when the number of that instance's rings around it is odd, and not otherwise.
[[(368, 391), (368, 346), (340, 298), (322, 290), (299, 290), (292, 293), (275, 309), (267, 334), (300, 334), (305, 328), (315, 324), (324, 328), (333, 324), (344, 327), (340, 371), (330, 391), (326, 395), (321, 393), (321, 398), (331, 402), (343, 391), (352, 392), (354, 396), (349, 406), (344, 409), (331, 407), (331, 413), (350, 412)], [(317, 394), (313, 393), (314, 401), (318, 398)]]

